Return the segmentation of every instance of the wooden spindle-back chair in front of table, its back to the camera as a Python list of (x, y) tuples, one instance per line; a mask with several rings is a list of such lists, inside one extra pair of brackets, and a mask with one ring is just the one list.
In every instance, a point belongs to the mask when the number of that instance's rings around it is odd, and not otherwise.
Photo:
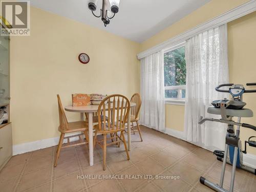
[[(108, 103), (105, 104), (105, 101)], [(110, 95), (102, 100), (98, 107), (98, 114), (102, 111), (103, 121), (100, 116), (98, 116), (98, 124), (95, 125), (95, 136), (94, 145), (97, 143), (103, 149), (103, 170), (106, 169), (106, 146), (111, 144), (118, 144), (123, 142), (124, 148), (127, 155), (127, 160), (130, 160), (129, 153), (126, 146), (126, 141), (124, 137), (125, 121), (127, 121), (129, 111), (130, 111), (130, 101), (123, 95)], [(123, 119), (119, 121), (119, 116)], [(106, 120), (108, 118), (108, 120)], [(118, 135), (120, 133), (120, 136)], [(103, 139), (98, 140), (97, 134), (102, 134)], [(110, 138), (106, 136), (111, 134)], [(116, 138), (119, 139), (116, 139)], [(107, 140), (112, 142), (106, 143)]]

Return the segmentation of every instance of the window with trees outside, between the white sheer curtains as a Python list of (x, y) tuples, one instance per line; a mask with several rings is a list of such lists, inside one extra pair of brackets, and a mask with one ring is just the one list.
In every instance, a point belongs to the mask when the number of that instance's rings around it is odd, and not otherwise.
[(186, 93), (185, 45), (164, 52), (166, 100), (184, 101)]

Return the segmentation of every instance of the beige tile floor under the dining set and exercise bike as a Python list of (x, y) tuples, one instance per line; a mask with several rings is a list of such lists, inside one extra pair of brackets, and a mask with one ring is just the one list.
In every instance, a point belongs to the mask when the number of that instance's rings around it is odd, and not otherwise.
[[(95, 165), (89, 166), (88, 146), (65, 148), (53, 167), (56, 146), (17, 155), (0, 172), (0, 191), (212, 191), (199, 183), (205, 176), (218, 182), (221, 162), (211, 152), (193, 144), (141, 127), (132, 135), (130, 161), (123, 145), (108, 147), (107, 168), (102, 170), (102, 151), (95, 150)], [(79, 175), (165, 175), (180, 179), (77, 179)], [(228, 188), (230, 166), (225, 188)], [(235, 191), (256, 191), (256, 176), (238, 170)]]

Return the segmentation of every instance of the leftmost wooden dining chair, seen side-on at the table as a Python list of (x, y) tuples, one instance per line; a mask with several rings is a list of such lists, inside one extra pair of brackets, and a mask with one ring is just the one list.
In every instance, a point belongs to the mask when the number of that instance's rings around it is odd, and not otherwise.
[[(60, 138), (59, 138), (59, 144), (58, 144), (58, 148), (57, 148), (57, 154), (55, 156), (54, 167), (57, 166), (57, 161), (58, 161), (58, 158), (59, 158), (61, 148), (77, 146), (77, 145), (81, 145), (81, 144), (87, 144), (88, 141), (89, 141), (88, 123), (86, 121), (68, 122), (66, 114), (63, 110), (63, 106), (62, 106), (59, 95), (57, 95), (57, 98), (58, 98), (58, 108), (59, 108), (59, 127), (58, 127), (58, 130), (60, 132)], [(75, 133), (75, 132), (83, 132), (83, 133), (65, 137), (66, 133)], [(86, 137), (87, 141), (83, 141), (82, 135), (84, 135)], [(79, 137), (80, 142), (76, 142), (76, 143), (73, 143), (73, 144), (70, 143), (70, 138), (72, 138), (72, 137)], [(65, 143), (62, 146), (63, 139), (67, 139), (67, 143)]]

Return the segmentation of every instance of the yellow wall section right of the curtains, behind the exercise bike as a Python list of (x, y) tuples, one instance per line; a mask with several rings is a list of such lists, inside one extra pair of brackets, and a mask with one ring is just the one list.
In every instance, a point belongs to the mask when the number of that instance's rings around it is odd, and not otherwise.
[[(233, 83), (246, 84), (256, 82), (256, 12), (243, 16), (228, 24), (228, 63), (229, 79)], [(246, 87), (246, 89), (256, 89)], [(256, 93), (244, 94), (243, 100), (246, 108), (254, 112), (252, 118), (242, 118), (245, 123), (256, 125)], [(256, 132), (242, 128), (241, 140), (247, 140), (249, 136), (256, 136)], [(248, 147), (248, 152), (256, 154), (255, 148)]]

